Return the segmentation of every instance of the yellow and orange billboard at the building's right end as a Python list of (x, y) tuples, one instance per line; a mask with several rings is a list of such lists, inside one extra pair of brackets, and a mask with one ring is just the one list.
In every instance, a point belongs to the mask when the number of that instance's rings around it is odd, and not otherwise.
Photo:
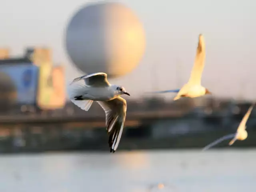
[(37, 105), (42, 110), (64, 107), (66, 102), (64, 68), (42, 63), (39, 70)]

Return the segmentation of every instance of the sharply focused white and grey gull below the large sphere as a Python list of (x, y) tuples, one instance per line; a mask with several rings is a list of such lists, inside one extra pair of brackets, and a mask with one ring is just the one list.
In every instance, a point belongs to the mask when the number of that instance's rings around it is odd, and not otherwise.
[[(80, 81), (84, 80), (84, 81)], [(68, 87), (70, 100), (82, 110), (88, 111), (96, 101), (106, 113), (106, 128), (110, 152), (115, 152), (120, 142), (126, 118), (126, 100), (120, 95), (128, 92), (122, 86), (112, 85), (106, 73), (93, 73), (75, 78)]]

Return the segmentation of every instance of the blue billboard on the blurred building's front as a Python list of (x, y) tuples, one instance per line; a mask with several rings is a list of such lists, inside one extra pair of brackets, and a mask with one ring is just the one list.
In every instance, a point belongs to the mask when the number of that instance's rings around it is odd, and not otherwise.
[(0, 65), (0, 72), (8, 75), (17, 92), (17, 103), (35, 104), (38, 82), (38, 67), (28, 64)]

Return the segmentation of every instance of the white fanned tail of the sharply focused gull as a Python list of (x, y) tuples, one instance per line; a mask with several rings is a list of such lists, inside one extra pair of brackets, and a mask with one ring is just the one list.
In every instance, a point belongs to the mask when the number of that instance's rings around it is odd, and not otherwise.
[(87, 88), (83, 81), (73, 82), (68, 86), (68, 97), (70, 100), (82, 110), (88, 111), (92, 106), (92, 100), (75, 100), (76, 96), (84, 95), (84, 91)]

